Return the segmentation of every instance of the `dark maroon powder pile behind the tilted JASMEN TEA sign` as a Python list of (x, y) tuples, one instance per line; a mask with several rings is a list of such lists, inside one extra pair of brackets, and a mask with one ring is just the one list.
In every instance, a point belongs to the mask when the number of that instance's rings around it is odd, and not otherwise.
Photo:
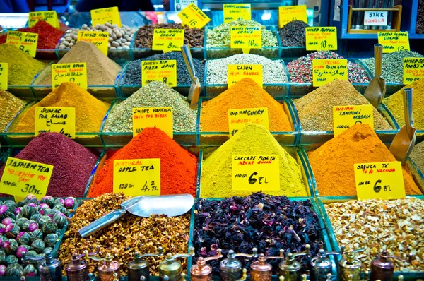
[[(14, 156), (53, 165), (47, 195), (83, 197), (90, 173), (98, 160), (87, 148), (61, 133), (42, 133)], [(4, 166), (0, 169), (3, 175)]]

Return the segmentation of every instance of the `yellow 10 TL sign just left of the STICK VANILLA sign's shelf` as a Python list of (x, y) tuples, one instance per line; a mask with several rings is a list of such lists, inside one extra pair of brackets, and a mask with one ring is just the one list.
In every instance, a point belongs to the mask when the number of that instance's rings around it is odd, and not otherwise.
[(327, 51), (337, 49), (336, 28), (305, 28), (306, 50)]

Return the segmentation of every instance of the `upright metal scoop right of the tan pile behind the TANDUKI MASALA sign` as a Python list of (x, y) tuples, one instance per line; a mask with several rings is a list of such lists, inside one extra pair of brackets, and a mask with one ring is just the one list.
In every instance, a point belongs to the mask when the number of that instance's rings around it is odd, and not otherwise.
[(382, 102), (384, 95), (386, 94), (386, 80), (382, 76), (382, 56), (383, 56), (383, 45), (374, 45), (374, 73), (375, 76), (372, 78), (367, 89), (365, 89), (364, 97), (367, 98), (368, 102), (377, 108)]

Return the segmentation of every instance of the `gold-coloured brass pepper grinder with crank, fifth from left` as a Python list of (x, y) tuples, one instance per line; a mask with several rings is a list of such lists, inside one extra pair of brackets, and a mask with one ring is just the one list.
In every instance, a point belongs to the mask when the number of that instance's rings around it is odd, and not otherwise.
[(174, 256), (171, 253), (167, 253), (165, 261), (159, 263), (160, 280), (184, 280), (185, 274), (182, 273), (181, 263), (175, 261), (175, 258), (189, 258), (190, 256), (194, 256), (194, 247), (190, 247), (189, 253), (179, 253)]

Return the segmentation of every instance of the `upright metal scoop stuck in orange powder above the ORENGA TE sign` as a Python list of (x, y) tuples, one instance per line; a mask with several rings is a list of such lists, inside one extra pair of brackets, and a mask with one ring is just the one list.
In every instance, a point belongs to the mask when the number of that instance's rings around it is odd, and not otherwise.
[(404, 115), (405, 126), (401, 131), (396, 133), (394, 140), (390, 145), (390, 152), (396, 160), (405, 164), (406, 158), (412, 151), (416, 141), (417, 129), (413, 127), (413, 112), (412, 112), (412, 88), (404, 88)]

